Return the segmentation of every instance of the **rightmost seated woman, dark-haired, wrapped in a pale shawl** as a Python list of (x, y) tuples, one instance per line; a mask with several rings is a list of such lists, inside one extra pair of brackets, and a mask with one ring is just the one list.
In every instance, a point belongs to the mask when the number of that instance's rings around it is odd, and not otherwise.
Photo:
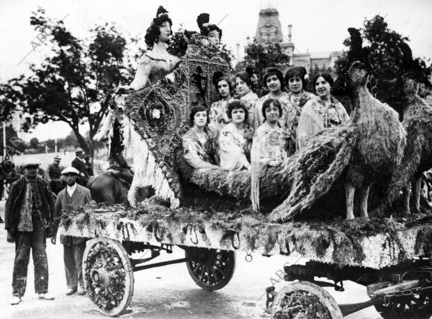
[(313, 84), (318, 96), (304, 104), (302, 109), (297, 129), (299, 148), (306, 145), (309, 137), (350, 119), (341, 102), (330, 94), (333, 83), (333, 78), (328, 73), (319, 73), (314, 77)]

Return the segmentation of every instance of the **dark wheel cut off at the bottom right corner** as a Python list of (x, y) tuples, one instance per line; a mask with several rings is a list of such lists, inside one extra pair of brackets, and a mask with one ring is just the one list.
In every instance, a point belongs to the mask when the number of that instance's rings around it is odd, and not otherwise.
[(385, 298), (375, 309), (384, 319), (420, 319), (432, 316), (432, 293), (393, 295)]

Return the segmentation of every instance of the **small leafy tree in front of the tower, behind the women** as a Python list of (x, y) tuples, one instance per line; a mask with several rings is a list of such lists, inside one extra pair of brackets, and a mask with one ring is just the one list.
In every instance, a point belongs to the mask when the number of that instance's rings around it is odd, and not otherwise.
[(289, 56), (283, 52), (280, 45), (272, 43), (264, 45), (254, 40), (254, 42), (246, 47), (244, 61), (236, 65), (236, 71), (243, 71), (246, 66), (252, 67), (258, 76), (259, 88), (255, 91), (257, 94), (263, 95), (267, 90), (262, 85), (265, 69), (270, 66), (285, 69), (289, 61)]

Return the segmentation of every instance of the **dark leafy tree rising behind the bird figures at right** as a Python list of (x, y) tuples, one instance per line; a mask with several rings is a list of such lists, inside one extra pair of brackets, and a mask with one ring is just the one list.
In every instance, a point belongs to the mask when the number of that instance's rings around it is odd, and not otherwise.
[[(415, 72), (430, 86), (431, 68), (422, 59), (412, 59), (408, 45), (409, 39), (388, 28), (387, 22), (380, 15), (371, 20), (364, 20), (362, 29), (349, 28), (350, 38), (344, 41), (348, 51), (336, 61), (339, 76), (334, 85), (334, 94), (350, 93), (348, 69), (354, 61), (362, 61), (369, 67), (375, 79), (371, 79), (369, 88), (378, 88), (376, 97), (387, 102), (403, 113), (403, 87), (401, 76), (408, 71)], [(367, 45), (367, 46), (364, 46)], [(373, 93), (375, 93), (375, 90)]]

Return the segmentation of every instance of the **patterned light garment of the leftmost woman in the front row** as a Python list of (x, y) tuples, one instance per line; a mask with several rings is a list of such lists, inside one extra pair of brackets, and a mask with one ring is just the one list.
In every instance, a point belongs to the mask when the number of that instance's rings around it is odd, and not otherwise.
[(196, 134), (193, 127), (183, 135), (183, 157), (194, 169), (217, 169), (219, 166), (211, 163), (210, 136), (203, 132)]

